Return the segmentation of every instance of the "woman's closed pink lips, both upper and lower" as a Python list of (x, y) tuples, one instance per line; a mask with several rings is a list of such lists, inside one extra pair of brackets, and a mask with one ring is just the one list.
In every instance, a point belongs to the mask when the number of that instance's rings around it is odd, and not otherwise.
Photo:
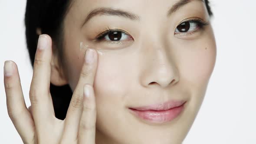
[(172, 121), (184, 109), (186, 101), (167, 101), (163, 104), (149, 105), (144, 107), (129, 108), (131, 112), (143, 120), (163, 123)]

